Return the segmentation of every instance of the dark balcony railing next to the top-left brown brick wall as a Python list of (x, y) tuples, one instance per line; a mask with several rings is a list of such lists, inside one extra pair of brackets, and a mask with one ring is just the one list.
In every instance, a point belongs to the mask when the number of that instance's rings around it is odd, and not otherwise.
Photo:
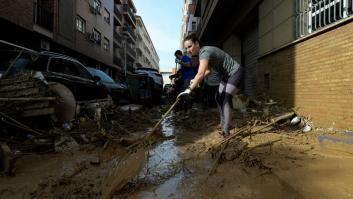
[(34, 4), (34, 24), (53, 31), (54, 13), (48, 8)]

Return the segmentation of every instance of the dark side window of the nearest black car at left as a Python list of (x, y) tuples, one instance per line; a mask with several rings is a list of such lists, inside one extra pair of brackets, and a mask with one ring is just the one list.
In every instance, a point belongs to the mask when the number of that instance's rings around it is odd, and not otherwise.
[(63, 73), (66, 75), (81, 77), (85, 79), (92, 79), (88, 71), (85, 71), (81, 65), (74, 61), (61, 58), (50, 59), (49, 71)]

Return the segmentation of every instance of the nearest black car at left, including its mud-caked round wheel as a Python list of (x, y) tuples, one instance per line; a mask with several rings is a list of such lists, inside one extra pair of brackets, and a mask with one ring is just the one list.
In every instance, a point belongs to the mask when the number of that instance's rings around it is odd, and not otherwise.
[(78, 60), (53, 52), (37, 52), (0, 40), (0, 78), (40, 72), (51, 92), (60, 97), (55, 107), (59, 122), (74, 119), (77, 104), (110, 103), (107, 89)]

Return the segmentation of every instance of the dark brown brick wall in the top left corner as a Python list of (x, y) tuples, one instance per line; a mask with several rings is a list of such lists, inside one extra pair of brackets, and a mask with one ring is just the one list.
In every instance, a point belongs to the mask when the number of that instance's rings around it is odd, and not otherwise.
[(33, 29), (33, 0), (0, 0), (0, 18)]

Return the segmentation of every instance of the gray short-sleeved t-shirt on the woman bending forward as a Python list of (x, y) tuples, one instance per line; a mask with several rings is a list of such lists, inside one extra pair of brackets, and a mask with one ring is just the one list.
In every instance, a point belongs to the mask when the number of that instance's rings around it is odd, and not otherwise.
[(233, 75), (240, 67), (240, 64), (229, 54), (214, 46), (203, 46), (200, 49), (199, 59), (208, 59), (209, 67), (222, 77)]

